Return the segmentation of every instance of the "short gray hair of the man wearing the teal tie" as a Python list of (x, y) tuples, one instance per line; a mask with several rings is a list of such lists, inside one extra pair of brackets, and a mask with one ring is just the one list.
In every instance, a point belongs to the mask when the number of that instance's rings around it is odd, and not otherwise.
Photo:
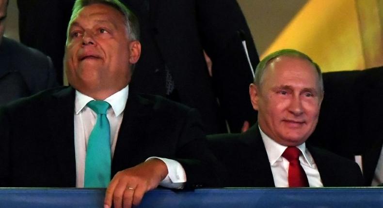
[(123, 3), (119, 0), (76, 0), (73, 5), (72, 15), (68, 24), (68, 29), (66, 32), (66, 38), (68, 39), (68, 31), (70, 24), (72, 23), (75, 16), (79, 13), (80, 9), (85, 6), (92, 4), (104, 4), (111, 6), (112, 8), (118, 10), (125, 17), (126, 28), (129, 35), (129, 38), (133, 41), (140, 39), (140, 25), (138, 23), (138, 18), (133, 14)]

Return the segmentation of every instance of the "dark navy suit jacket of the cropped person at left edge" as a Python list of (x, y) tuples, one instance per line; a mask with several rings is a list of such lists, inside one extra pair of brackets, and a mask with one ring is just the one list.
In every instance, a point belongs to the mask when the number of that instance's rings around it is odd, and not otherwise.
[(0, 44), (0, 105), (57, 86), (49, 57), (2, 37)]

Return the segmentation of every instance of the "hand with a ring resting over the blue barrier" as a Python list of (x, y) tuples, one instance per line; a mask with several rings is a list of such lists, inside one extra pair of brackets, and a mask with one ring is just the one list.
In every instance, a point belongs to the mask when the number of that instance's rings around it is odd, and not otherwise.
[(119, 171), (106, 190), (104, 208), (110, 208), (112, 201), (114, 208), (139, 205), (144, 193), (155, 189), (167, 175), (166, 164), (157, 158)]

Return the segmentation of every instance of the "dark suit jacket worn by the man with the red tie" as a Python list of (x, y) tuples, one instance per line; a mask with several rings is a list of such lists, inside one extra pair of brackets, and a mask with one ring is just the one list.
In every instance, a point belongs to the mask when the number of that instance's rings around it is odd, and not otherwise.
[[(209, 147), (227, 169), (223, 186), (275, 187), (271, 167), (258, 125), (242, 134), (207, 137)], [(329, 151), (306, 146), (318, 166), (324, 187), (361, 186), (359, 166)]]

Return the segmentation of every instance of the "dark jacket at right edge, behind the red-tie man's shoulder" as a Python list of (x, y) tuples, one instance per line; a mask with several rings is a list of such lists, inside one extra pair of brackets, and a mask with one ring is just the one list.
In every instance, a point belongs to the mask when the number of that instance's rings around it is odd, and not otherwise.
[(362, 156), (370, 186), (383, 145), (383, 66), (323, 73), (325, 96), (307, 143), (354, 160)]

